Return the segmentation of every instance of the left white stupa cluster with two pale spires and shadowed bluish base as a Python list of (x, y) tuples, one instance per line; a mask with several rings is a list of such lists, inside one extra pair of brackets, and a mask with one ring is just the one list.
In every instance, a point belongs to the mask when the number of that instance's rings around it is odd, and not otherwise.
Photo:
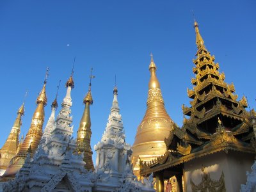
[(71, 86), (54, 121), (54, 107), (44, 135), (33, 158), (30, 154), (17, 173), (15, 180), (3, 187), (4, 191), (91, 191), (92, 172), (84, 170), (83, 155), (72, 154), (76, 140), (70, 116)]

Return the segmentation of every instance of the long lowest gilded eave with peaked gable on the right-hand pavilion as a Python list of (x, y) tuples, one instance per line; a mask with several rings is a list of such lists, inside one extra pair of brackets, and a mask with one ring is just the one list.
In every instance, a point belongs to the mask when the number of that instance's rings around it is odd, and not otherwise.
[(141, 168), (140, 174), (148, 175), (152, 172), (159, 172), (166, 168), (177, 166), (178, 164), (191, 161), (192, 159), (198, 157), (207, 156), (209, 154), (214, 154), (221, 151), (228, 152), (229, 150), (255, 154), (255, 148), (252, 147), (252, 145), (237, 140), (232, 132), (216, 132), (216, 134), (212, 135), (210, 141), (205, 143), (203, 146), (198, 147), (197, 150), (196, 148), (193, 149), (191, 154), (181, 157), (172, 156), (172, 158), (168, 158), (169, 160), (164, 164), (158, 164), (156, 162), (155, 164), (152, 164), (152, 166), (144, 166)]

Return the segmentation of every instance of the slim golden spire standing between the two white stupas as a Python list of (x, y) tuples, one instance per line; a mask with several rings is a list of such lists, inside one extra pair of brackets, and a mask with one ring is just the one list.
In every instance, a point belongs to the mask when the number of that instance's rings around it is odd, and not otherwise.
[(86, 170), (93, 170), (93, 161), (92, 161), (92, 148), (91, 148), (91, 117), (90, 117), (90, 105), (93, 103), (92, 93), (91, 93), (91, 86), (92, 86), (92, 78), (94, 76), (90, 76), (90, 84), (89, 90), (86, 96), (84, 97), (84, 113), (80, 121), (79, 129), (77, 131), (77, 148), (75, 152), (79, 154), (84, 152), (84, 162), (86, 163), (84, 168)]

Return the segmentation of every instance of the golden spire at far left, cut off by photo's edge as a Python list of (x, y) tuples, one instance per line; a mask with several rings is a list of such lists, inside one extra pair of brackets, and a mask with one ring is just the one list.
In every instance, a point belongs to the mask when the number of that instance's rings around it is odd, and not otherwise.
[(0, 150), (0, 175), (3, 175), (12, 157), (17, 154), (17, 149), (19, 148), (20, 126), (22, 125), (22, 115), (24, 115), (24, 102), (17, 111), (17, 118), (13, 124), (12, 131)]

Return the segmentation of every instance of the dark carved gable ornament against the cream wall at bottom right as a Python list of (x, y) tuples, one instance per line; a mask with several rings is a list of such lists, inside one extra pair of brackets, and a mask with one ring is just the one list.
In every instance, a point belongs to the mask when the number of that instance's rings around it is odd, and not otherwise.
[(220, 191), (220, 192), (225, 192), (226, 187), (225, 187), (225, 179), (224, 179), (224, 173), (221, 173), (220, 179), (219, 180), (213, 180), (210, 177), (210, 173), (205, 173), (203, 172), (202, 174), (202, 181), (200, 184), (195, 184), (192, 179), (190, 179), (191, 183), (191, 191), (192, 192), (198, 192), (198, 191)]

